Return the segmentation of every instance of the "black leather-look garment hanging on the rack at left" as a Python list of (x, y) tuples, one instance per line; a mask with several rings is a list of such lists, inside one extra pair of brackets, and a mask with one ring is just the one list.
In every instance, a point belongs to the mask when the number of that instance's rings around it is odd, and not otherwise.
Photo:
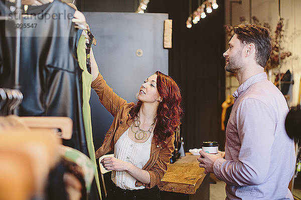
[[(11, 13), (0, 1), (1, 15)], [(71, 21), (75, 10), (59, 0), (29, 6), (21, 31), (20, 90), (24, 95), (20, 116), (68, 116), (73, 134), (64, 145), (88, 155), (82, 116), (82, 79), (76, 47), (81, 30)], [(13, 20), (0, 26), (0, 87), (13, 88), (15, 78), (15, 28)], [(24, 24), (26, 24), (24, 26)]]

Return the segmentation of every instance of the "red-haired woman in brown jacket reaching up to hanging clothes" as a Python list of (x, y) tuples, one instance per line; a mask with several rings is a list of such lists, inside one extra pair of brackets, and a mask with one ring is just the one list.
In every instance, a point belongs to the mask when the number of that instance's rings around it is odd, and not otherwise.
[(114, 116), (95, 152), (98, 158), (114, 149), (114, 157), (101, 160), (112, 170), (115, 183), (107, 199), (160, 199), (158, 184), (174, 151), (174, 131), (182, 114), (180, 89), (170, 76), (156, 71), (141, 84), (138, 101), (128, 103), (106, 84), (90, 54), (91, 87)]

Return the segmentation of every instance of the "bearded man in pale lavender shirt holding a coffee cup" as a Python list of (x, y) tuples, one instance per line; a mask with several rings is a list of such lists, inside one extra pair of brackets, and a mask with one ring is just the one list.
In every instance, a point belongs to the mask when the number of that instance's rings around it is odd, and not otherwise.
[(233, 93), (225, 154), (200, 151), (199, 166), (226, 182), (226, 199), (293, 199), (288, 183), (295, 152), (284, 128), (288, 107), (264, 72), (269, 31), (248, 24), (235, 26), (234, 33), (223, 55), (225, 70), (236, 73), (240, 86)]

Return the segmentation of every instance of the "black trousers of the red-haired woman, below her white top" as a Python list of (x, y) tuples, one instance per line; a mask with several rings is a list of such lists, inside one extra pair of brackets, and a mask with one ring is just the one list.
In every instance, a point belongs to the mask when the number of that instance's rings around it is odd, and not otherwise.
[(114, 184), (106, 196), (107, 200), (160, 200), (160, 190), (156, 185), (144, 189), (122, 189)]

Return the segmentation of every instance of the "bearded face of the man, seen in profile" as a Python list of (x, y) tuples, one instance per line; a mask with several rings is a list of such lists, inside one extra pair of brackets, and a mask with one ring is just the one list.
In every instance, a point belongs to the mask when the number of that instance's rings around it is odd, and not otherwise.
[(237, 34), (234, 34), (229, 41), (229, 48), (223, 53), (226, 58), (225, 70), (236, 73), (244, 65), (242, 59), (242, 49), (243, 45), (241, 41), (237, 38)]

